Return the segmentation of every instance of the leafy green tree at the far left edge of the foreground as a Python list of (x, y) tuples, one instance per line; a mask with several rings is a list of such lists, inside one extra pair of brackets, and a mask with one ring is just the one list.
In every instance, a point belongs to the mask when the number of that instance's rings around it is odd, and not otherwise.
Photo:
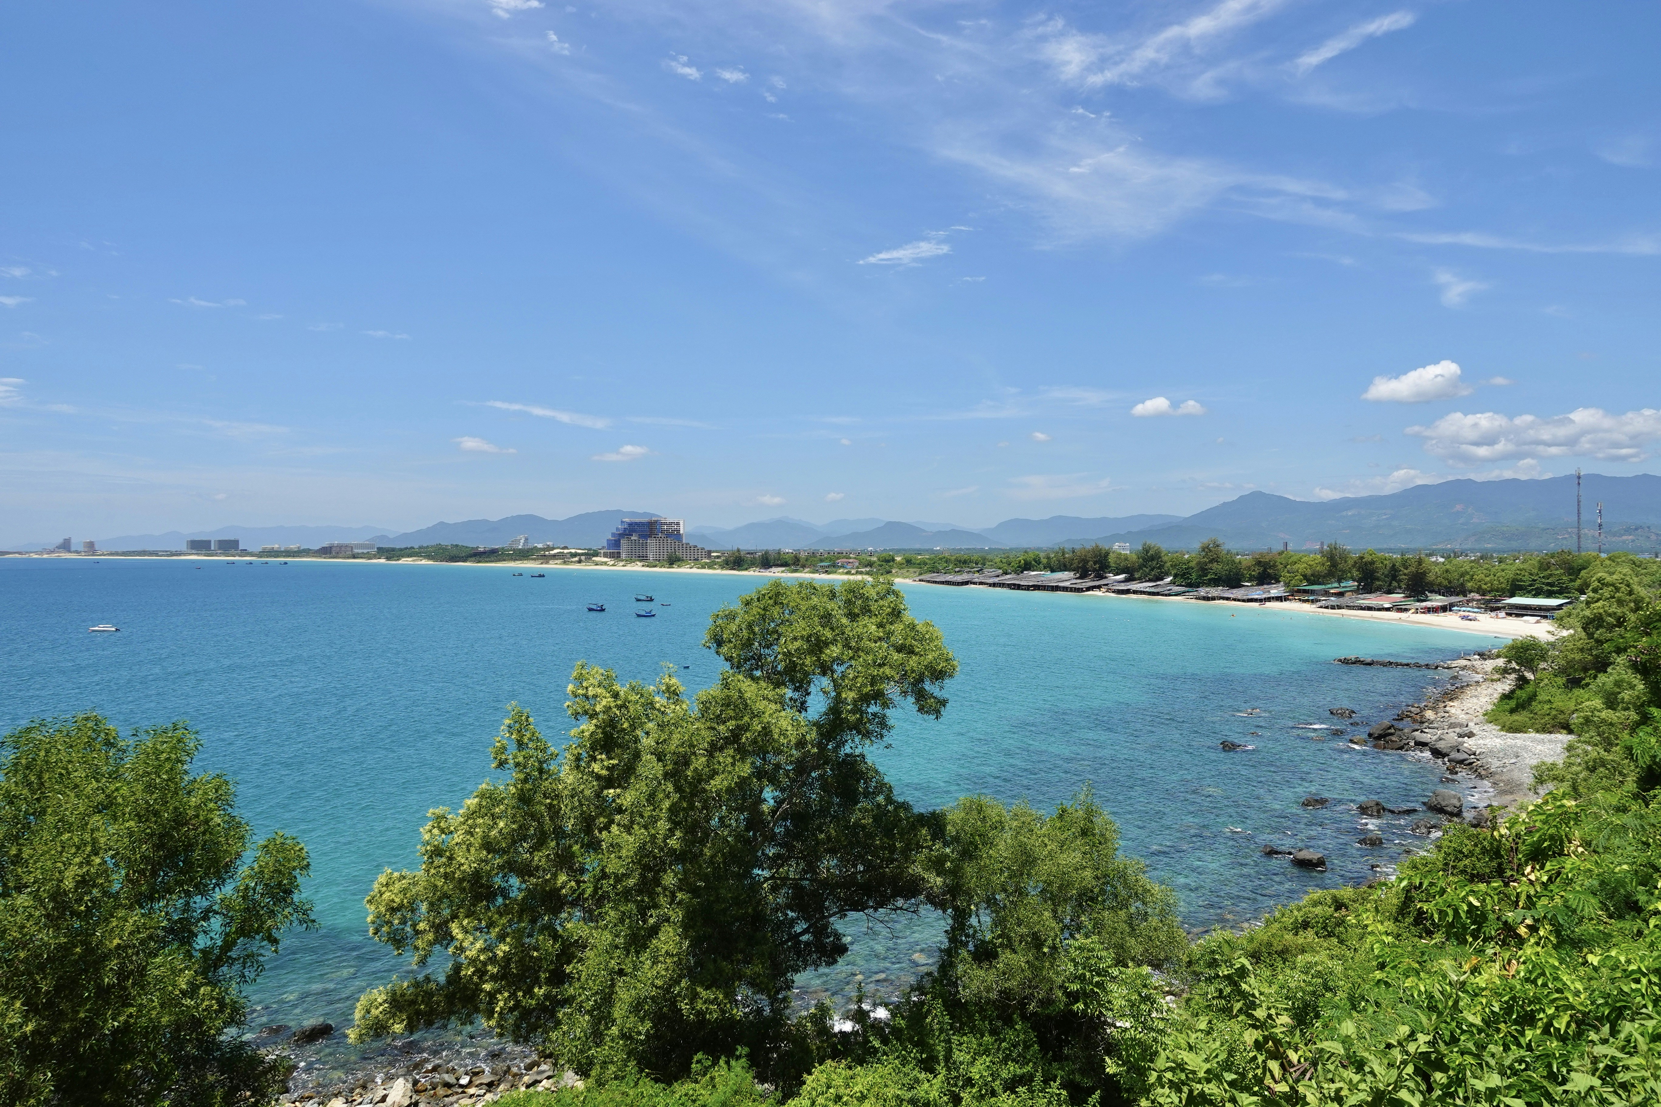
[(264, 1102), (287, 1075), (236, 1037), (289, 926), (306, 848), (252, 845), (234, 785), (191, 775), (184, 724), (0, 739), (0, 1102)]

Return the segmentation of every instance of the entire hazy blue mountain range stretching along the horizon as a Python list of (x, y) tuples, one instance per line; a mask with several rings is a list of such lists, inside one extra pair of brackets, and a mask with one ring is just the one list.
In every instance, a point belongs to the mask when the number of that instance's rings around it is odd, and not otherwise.
[[(1661, 476), (1603, 476), (1588, 473), (1583, 485), (1581, 541), (1596, 541), (1596, 505), (1603, 505), (1605, 549), (1661, 549)], [(239, 538), (244, 548), (262, 544), (319, 546), (327, 541), (375, 541), (382, 546), (503, 546), (518, 534), (532, 543), (598, 546), (625, 516), (653, 511), (586, 511), (566, 519), (512, 514), (503, 519), (465, 519), (389, 534), (375, 526), (224, 526), (218, 531), (169, 531), (98, 539), (100, 549), (183, 549), (186, 538)], [(809, 523), (774, 518), (734, 528), (693, 526), (688, 541), (709, 549), (1030, 549), (1046, 546), (1111, 546), (1144, 541), (1166, 549), (1193, 549), (1221, 538), (1231, 549), (1312, 549), (1344, 543), (1362, 549), (1563, 549), (1575, 544), (1575, 478), (1453, 480), (1418, 485), (1377, 496), (1327, 501), (1291, 500), (1266, 491), (1206, 508), (1196, 514), (1128, 514), (1046, 519), (1005, 519), (997, 526), (963, 526), (917, 519), (832, 519)], [(23, 543), (13, 549), (45, 549), (53, 543)]]

